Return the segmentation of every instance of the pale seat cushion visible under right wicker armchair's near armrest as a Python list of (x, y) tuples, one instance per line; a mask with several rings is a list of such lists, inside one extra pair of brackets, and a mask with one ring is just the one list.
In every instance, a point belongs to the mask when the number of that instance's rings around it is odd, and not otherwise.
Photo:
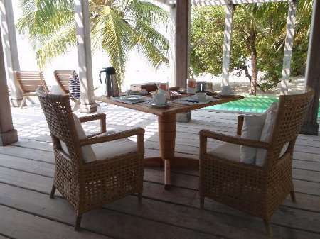
[(240, 162), (240, 145), (235, 145), (234, 143), (222, 143), (212, 150), (208, 150), (207, 153), (216, 157)]

